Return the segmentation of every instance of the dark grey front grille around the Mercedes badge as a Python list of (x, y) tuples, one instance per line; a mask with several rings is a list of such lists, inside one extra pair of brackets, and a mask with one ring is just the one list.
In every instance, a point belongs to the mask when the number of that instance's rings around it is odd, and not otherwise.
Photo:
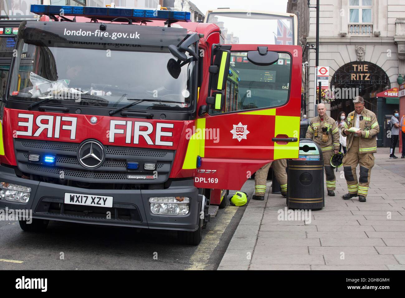
[[(15, 139), (17, 165), (27, 174), (42, 177), (63, 178), (90, 183), (162, 183), (168, 179), (174, 160), (173, 150), (143, 150), (105, 146), (106, 159), (94, 169), (86, 169), (77, 159), (78, 144)], [(28, 160), (29, 154), (56, 154), (54, 166)], [(153, 175), (152, 172), (128, 171), (127, 161), (157, 161), (158, 179), (128, 179), (128, 174)]]

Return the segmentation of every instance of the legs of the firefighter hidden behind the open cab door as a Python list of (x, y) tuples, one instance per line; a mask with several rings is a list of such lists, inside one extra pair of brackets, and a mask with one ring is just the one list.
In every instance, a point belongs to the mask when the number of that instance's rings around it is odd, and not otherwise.
[(287, 196), (287, 160), (276, 159), (275, 161), (264, 165), (256, 171), (254, 176), (255, 192), (252, 199), (260, 201), (264, 200), (264, 194), (266, 193), (267, 173), (269, 172), (271, 166), (273, 167), (277, 181), (280, 183), (281, 195), (283, 197)]

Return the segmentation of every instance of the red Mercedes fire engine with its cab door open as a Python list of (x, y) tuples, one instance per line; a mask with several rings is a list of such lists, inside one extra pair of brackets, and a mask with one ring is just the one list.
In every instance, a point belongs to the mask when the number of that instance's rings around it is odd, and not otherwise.
[(221, 45), (185, 12), (31, 11), (46, 18), (19, 26), (0, 143), (0, 208), (32, 210), (22, 229), (172, 229), (195, 245), (221, 189), (298, 157), (301, 47)]

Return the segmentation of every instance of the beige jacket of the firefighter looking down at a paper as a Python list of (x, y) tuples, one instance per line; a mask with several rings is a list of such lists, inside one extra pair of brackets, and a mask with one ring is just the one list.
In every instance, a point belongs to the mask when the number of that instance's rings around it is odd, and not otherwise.
[[(356, 121), (356, 111), (352, 111), (347, 115), (347, 119), (343, 127), (345, 129), (350, 129), (354, 126)], [(361, 130), (361, 137), (359, 141), (359, 152), (360, 153), (374, 153), (377, 152), (377, 133), (379, 133), (379, 126), (377, 122), (377, 117), (375, 114), (364, 108), (360, 114), (360, 130)], [(344, 133), (344, 129), (342, 129), (342, 135), (346, 136)], [(346, 144), (347, 144), (347, 151), (350, 150), (350, 146), (352, 146), (353, 140), (355, 138), (354, 133), (349, 133), (347, 135)]]

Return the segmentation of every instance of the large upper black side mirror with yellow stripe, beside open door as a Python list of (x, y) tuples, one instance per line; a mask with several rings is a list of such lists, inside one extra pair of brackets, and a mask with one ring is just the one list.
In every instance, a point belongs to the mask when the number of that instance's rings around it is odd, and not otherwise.
[[(211, 89), (224, 90), (228, 78), (230, 51), (218, 50), (213, 65), (209, 67), (211, 73)], [(210, 91), (210, 90), (209, 90)]]

